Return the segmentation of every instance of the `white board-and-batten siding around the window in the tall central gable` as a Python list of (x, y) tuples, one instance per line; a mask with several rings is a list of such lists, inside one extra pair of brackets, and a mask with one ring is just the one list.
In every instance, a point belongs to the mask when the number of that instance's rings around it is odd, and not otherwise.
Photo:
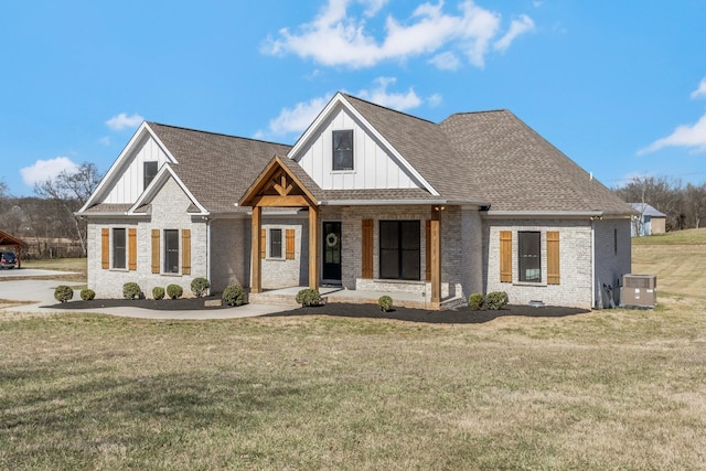
[[(333, 171), (333, 131), (353, 129), (353, 170)], [(323, 190), (373, 190), (422, 188), (394, 156), (379, 146), (345, 109), (322, 126), (301, 157), (299, 165)]]

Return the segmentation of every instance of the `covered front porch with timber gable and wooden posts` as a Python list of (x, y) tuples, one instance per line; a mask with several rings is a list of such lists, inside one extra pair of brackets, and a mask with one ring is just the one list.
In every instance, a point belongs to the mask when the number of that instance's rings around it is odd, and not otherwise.
[[(322, 274), (324, 264), (322, 249), (322, 233), (328, 220), (322, 220), (322, 210), (331, 208), (322, 203), (318, 193), (321, 190), (307, 178), (306, 174), (299, 174), (297, 169), (290, 168), (279, 157), (275, 157), (266, 169), (260, 173), (258, 179), (253, 183), (248, 192), (238, 202), (242, 206), (253, 207), (250, 220), (250, 289), (249, 302), (253, 303), (279, 303), (292, 302), (296, 306), (295, 297), (297, 292), (304, 288), (301, 286), (281, 289), (267, 290), (263, 285), (263, 259), (266, 258), (266, 249), (264, 247), (265, 237), (263, 236), (263, 208), (269, 207), (300, 207), (308, 211), (308, 234), (307, 234), (307, 270), (308, 278), (300, 283), (307, 282), (306, 288), (317, 289), (324, 298), (325, 302), (354, 302), (354, 303), (376, 303), (381, 296), (391, 296), (395, 306), (414, 307), (422, 309), (441, 309), (457, 302), (456, 299), (445, 299), (442, 302), (441, 287), (441, 234), (440, 234), (440, 211), (442, 207), (435, 205), (416, 205), (416, 213), (407, 213), (408, 217), (416, 222), (416, 254), (419, 258), (416, 267), (417, 288), (413, 290), (391, 290), (387, 291), (386, 281), (388, 278), (382, 274), (381, 268), (387, 267), (381, 261), (382, 255), (378, 245), (378, 236), (374, 226), (374, 218), (378, 216), (371, 205), (361, 207), (371, 212), (371, 215), (359, 216), (357, 218), (338, 217), (338, 227), (343, 227), (342, 237), (346, 240), (346, 247), (341, 253), (343, 267), (341, 287), (328, 287), (329, 281), (325, 272)], [(307, 183), (304, 185), (303, 182)], [(311, 189), (313, 189), (313, 191)], [(324, 199), (325, 200), (325, 199)], [(322, 207), (322, 204), (324, 206)], [(329, 203), (330, 204), (330, 203)], [(388, 204), (389, 206), (389, 204)], [(338, 206), (343, 213), (349, 213), (359, 206), (344, 205)], [(391, 206), (392, 207), (392, 206)], [(399, 220), (400, 214), (405, 214), (402, 210), (392, 207), (394, 214), (393, 220)], [(411, 215), (414, 214), (414, 215)], [(343, 223), (340, 221), (343, 220)], [(339, 229), (340, 231), (340, 229)], [(374, 238), (375, 233), (375, 238)], [(324, 234), (325, 235), (325, 234)], [(332, 243), (340, 243), (341, 235), (332, 238)], [(293, 242), (293, 240), (292, 240)], [(405, 247), (406, 248), (406, 247)], [(289, 253), (289, 250), (288, 250)], [(293, 248), (292, 251), (293, 253)], [(403, 244), (398, 247), (398, 253), (403, 253)], [(303, 254), (303, 249), (302, 249)], [(400, 255), (402, 257), (402, 255)], [(424, 263), (424, 265), (421, 265)], [(419, 271), (420, 270), (420, 271)], [(399, 277), (403, 278), (402, 268)], [(407, 274), (404, 274), (407, 276)], [(381, 278), (379, 280), (377, 278)], [(382, 282), (381, 282), (382, 281)], [(394, 282), (394, 280), (393, 280)], [(275, 288), (275, 287), (272, 287)], [(347, 289), (346, 289), (347, 288)], [(359, 289), (363, 288), (363, 289)], [(371, 289), (372, 288), (372, 289)], [(375, 288), (383, 288), (376, 290)], [(291, 301), (290, 301), (291, 300)]]

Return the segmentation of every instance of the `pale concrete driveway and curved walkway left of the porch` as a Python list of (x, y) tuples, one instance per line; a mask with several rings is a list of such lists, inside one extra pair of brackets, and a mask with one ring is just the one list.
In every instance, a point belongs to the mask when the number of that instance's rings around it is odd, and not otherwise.
[[(56, 272), (53, 272), (56, 275)], [(0, 308), (0, 312), (28, 312), (40, 314), (65, 314), (71, 312), (67, 309), (42, 308), (42, 306), (56, 304), (54, 299), (54, 288), (58, 285), (76, 286), (79, 282), (67, 282), (65, 280), (7, 280), (0, 281), (0, 299), (11, 301), (32, 301), (31, 304), (12, 306)], [(78, 290), (74, 291), (74, 299), (78, 299)], [(271, 314), (287, 311), (291, 308), (286, 306), (245, 304), (237, 308), (211, 309), (211, 310), (189, 310), (189, 311), (158, 311), (152, 309), (140, 309), (130, 307), (100, 308), (77, 310), (75, 312), (94, 312), (100, 314), (120, 315), (139, 319), (237, 319), (252, 318), (257, 315)]]

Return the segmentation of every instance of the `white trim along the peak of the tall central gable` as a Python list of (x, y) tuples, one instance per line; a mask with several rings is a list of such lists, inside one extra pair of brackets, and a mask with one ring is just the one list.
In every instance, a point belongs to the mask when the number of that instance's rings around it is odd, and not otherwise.
[[(323, 126), (325, 124), (325, 121), (332, 117), (332, 115), (335, 113), (338, 106), (341, 105), (342, 107), (345, 108), (345, 110), (347, 113), (350, 113), (351, 115), (353, 115), (353, 117), (355, 117), (355, 119), (357, 119), (363, 128), (365, 129), (366, 132), (368, 132), (371, 136), (373, 136), (375, 139), (377, 139), (393, 156), (395, 156), (395, 158), (399, 161), (399, 163), (402, 164), (403, 169), (406, 170), (407, 172), (409, 172), (410, 175), (413, 175), (414, 179), (416, 179), (419, 183), (421, 183), (422, 188), (425, 190), (427, 190), (429, 193), (431, 193), (435, 196), (439, 196), (439, 192), (435, 190), (434, 186), (431, 186), (431, 184), (424, 178), (421, 176), (421, 174), (417, 171), (417, 169), (415, 169), (408, 161), (407, 159), (405, 159), (398, 151), (397, 149), (395, 149), (388, 141), (387, 139), (385, 139), (385, 137), (383, 135), (381, 135), (377, 129), (375, 129), (364, 117), (363, 115), (361, 115), (354, 107), (353, 105), (351, 105), (351, 103), (345, 99), (345, 97), (341, 94), (338, 93), (335, 94), (335, 96), (331, 99), (331, 101), (329, 101), (329, 104), (323, 108), (323, 110), (319, 114), (319, 116), (317, 116), (317, 119), (314, 119), (314, 121), (309, 126), (309, 128), (307, 128), (307, 130), (304, 131), (304, 133), (299, 138), (299, 140), (297, 140), (297, 143), (295, 144), (295, 147), (291, 148), (291, 150), (289, 151), (289, 153), (287, 154), (287, 157), (289, 159), (295, 160), (296, 162), (299, 162), (299, 160), (301, 159), (301, 157), (303, 156), (302, 151), (304, 150), (306, 146), (308, 144), (308, 142), (315, 137), (317, 135), (317, 130), (319, 130), (321, 128), (321, 126)], [(297, 158), (298, 157), (298, 158)], [(310, 175), (311, 176), (311, 175)]]

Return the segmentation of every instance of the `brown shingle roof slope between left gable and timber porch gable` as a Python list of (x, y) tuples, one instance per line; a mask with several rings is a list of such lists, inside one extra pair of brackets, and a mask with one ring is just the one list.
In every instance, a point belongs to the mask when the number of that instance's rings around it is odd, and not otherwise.
[(189, 191), (212, 213), (235, 207), (259, 172), (290, 146), (149, 122), (179, 163), (172, 169)]

